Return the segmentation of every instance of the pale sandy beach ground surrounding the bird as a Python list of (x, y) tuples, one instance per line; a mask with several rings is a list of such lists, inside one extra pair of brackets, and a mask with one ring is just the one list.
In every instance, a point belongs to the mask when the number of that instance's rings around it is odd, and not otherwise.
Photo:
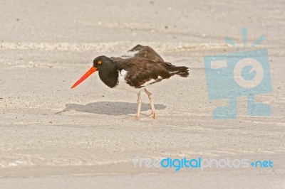
[[(284, 1), (0, 1), (0, 188), (285, 188)], [(214, 120), (203, 58), (264, 34), (270, 117)], [(71, 90), (98, 55), (150, 45), (190, 77), (157, 85), (158, 119), (143, 95), (98, 75)], [(135, 168), (133, 158), (247, 158), (274, 168)]]

